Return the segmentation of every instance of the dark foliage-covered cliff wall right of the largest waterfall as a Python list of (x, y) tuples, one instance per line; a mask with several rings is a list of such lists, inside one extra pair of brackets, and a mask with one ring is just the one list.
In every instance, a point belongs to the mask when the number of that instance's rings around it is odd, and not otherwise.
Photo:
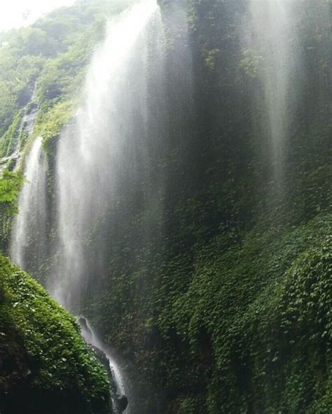
[[(168, 13), (177, 2), (160, 3), (172, 42)], [(312, 16), (316, 4), (294, 2), (309, 63), (277, 188), (266, 131), (257, 127), (268, 122), (258, 76), (265, 62), (259, 50), (243, 50), (247, 1), (188, 3), (197, 119), (172, 111), (182, 90), (172, 90), (177, 74), (167, 67), (170, 149), (152, 149), (149, 160), (166, 177), (165, 194), (146, 213), (130, 184), (121, 186), (111, 217), (96, 225), (111, 247), (85, 314), (137, 369), (128, 371), (151, 396), (139, 401), (141, 412), (329, 413), (329, 31), (319, 17), (308, 26), (305, 8)], [(86, 243), (95, 258), (94, 240), (89, 234)], [(160, 390), (166, 404), (155, 397)]]

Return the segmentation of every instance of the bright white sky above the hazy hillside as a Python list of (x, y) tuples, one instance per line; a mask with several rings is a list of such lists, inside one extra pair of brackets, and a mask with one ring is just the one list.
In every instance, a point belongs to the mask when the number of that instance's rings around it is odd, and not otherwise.
[(0, 31), (27, 26), (44, 13), (74, 0), (0, 0)]

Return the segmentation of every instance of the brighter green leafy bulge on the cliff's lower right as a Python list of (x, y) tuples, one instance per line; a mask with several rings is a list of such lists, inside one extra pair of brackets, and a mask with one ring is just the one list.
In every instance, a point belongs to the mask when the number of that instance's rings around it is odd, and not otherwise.
[[(220, 407), (229, 413), (325, 412), (332, 379), (331, 225), (331, 215), (323, 215), (289, 229), (257, 227), (241, 246), (226, 250), (217, 237), (197, 248), (188, 290), (170, 281), (172, 297), (158, 326), (171, 346), (176, 332), (187, 358), (202, 364), (188, 378), (198, 390), (191, 398), (200, 401), (193, 413), (202, 404), (210, 413)], [(213, 362), (209, 369), (207, 362)], [(174, 377), (167, 368), (170, 387), (177, 378), (186, 400), (185, 375), (178, 368)]]

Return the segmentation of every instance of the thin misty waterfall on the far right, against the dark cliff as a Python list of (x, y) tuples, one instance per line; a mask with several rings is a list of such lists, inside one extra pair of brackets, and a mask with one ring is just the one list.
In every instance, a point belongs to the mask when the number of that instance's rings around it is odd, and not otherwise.
[[(296, 27), (288, 0), (251, 0), (251, 41), (259, 56), (259, 76), (265, 94), (263, 124), (270, 137), (273, 180), (283, 183), (286, 145), (293, 113), (294, 85), (298, 70)], [(295, 79), (294, 79), (295, 76)], [(266, 122), (267, 119), (267, 122)]]

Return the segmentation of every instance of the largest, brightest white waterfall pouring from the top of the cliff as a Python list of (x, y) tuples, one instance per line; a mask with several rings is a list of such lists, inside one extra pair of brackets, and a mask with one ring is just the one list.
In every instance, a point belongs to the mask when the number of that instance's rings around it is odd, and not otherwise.
[(91, 273), (85, 260), (91, 239), (100, 249), (93, 260), (95, 274), (101, 272), (103, 243), (96, 231), (116, 204), (123, 175), (134, 180), (139, 158), (144, 157), (148, 39), (151, 31), (160, 36), (160, 27), (155, 1), (139, 3), (109, 23), (88, 71), (84, 105), (60, 138), (57, 211), (62, 258), (48, 287), (65, 306), (77, 303), (85, 275)]

